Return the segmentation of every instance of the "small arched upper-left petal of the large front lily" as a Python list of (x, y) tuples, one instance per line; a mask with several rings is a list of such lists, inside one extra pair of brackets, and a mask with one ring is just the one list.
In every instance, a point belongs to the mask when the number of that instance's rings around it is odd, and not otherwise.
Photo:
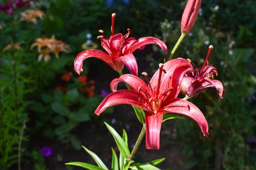
[(132, 88), (132, 90), (134, 91), (138, 91), (139, 86), (141, 86), (141, 90), (147, 91), (148, 87), (147, 84), (139, 77), (135, 75), (124, 74), (121, 75), (119, 78), (115, 78), (112, 80), (112, 82), (110, 83), (111, 91), (117, 91), (117, 84), (119, 82), (124, 82), (128, 84), (128, 86), (130, 86), (130, 88)]

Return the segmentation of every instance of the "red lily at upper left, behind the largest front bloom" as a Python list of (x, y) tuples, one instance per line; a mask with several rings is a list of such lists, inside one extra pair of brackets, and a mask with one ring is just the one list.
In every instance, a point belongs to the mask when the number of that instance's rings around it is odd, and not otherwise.
[[(81, 71), (83, 71), (83, 60), (89, 57), (96, 57), (103, 62), (106, 62), (117, 72), (121, 72), (124, 65), (126, 65), (130, 73), (137, 76), (138, 66), (136, 59), (132, 54), (133, 51), (136, 49), (143, 49), (147, 44), (158, 44), (162, 49), (164, 49), (164, 51), (167, 50), (166, 44), (164, 44), (164, 42), (158, 38), (143, 37), (139, 38), (138, 40), (135, 38), (128, 38), (130, 35), (130, 29), (128, 29), (128, 33), (124, 36), (121, 33), (115, 34), (115, 16), (116, 14), (112, 13), (112, 35), (109, 38), (107, 38), (105, 34), (98, 36), (98, 39), (101, 40), (101, 46), (106, 50), (107, 53), (96, 49), (82, 51), (76, 56), (74, 61), (74, 69), (76, 73), (80, 74)], [(99, 32), (103, 33), (102, 30), (99, 30)]]

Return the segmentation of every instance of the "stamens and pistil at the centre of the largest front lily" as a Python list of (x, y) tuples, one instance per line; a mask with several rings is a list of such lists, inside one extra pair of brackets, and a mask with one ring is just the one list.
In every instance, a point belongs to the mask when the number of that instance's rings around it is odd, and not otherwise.
[(159, 108), (159, 103), (162, 99), (162, 97), (168, 93), (169, 91), (171, 91), (173, 88), (168, 88), (166, 91), (161, 92), (160, 91), (160, 85), (161, 85), (161, 78), (162, 78), (162, 73), (166, 73), (166, 71), (164, 70), (164, 64), (160, 63), (159, 64), (159, 77), (158, 77), (158, 81), (157, 81), (157, 87), (152, 87), (148, 78), (146, 76), (148, 76), (148, 73), (143, 72), (141, 73), (142, 75), (145, 76), (147, 82), (148, 82), (148, 91), (142, 91), (141, 90), (141, 86), (138, 88), (138, 92), (140, 93), (144, 93), (145, 96), (147, 96), (148, 98), (148, 102), (151, 103), (152, 109), (154, 111), (154, 113), (157, 112), (158, 108)]

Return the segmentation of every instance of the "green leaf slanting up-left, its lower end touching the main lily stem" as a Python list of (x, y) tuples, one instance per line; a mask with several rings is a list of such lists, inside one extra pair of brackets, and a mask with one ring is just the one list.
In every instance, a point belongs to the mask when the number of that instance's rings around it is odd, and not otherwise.
[(112, 134), (112, 136), (115, 139), (115, 142), (117, 144), (117, 147), (121, 153), (121, 155), (127, 159), (128, 156), (130, 156), (130, 150), (128, 146), (126, 145), (125, 141), (121, 138), (121, 136), (117, 133), (117, 131), (112, 128), (110, 125), (108, 125), (106, 122), (104, 122), (105, 125), (107, 126), (108, 130)]

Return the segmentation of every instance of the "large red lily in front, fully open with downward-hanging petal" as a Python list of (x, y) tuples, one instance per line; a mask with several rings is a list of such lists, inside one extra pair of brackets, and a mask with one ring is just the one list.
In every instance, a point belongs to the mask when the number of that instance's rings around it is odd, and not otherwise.
[[(207, 136), (208, 124), (202, 112), (191, 102), (177, 98), (180, 84), (191, 65), (186, 60), (173, 59), (159, 64), (159, 69), (153, 75), (148, 85), (139, 77), (125, 74), (113, 79), (110, 93), (95, 114), (100, 115), (106, 108), (116, 104), (130, 104), (145, 110), (146, 148), (159, 149), (160, 129), (165, 113), (179, 113), (193, 119)], [(146, 77), (146, 73), (142, 73)], [(125, 82), (132, 90), (118, 90), (117, 84)]]

